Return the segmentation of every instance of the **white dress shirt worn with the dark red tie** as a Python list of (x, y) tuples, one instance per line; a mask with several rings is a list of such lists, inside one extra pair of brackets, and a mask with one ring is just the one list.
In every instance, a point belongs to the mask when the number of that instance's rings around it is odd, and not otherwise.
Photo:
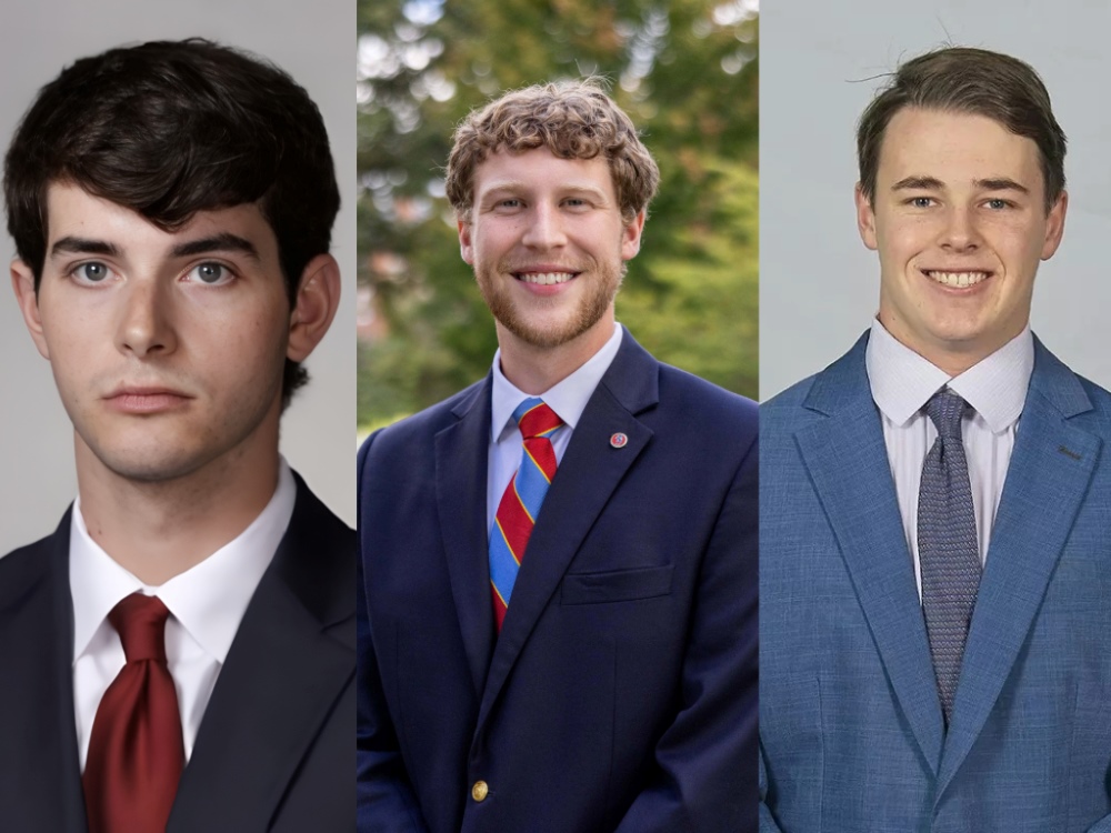
[(126, 664), (120, 636), (108, 621), (112, 608), (138, 591), (157, 595), (170, 611), (166, 659), (178, 694), (188, 761), (220, 669), (248, 602), (286, 534), (296, 499), (297, 484), (282, 460), (278, 488), (251, 525), (161, 586), (143, 584), (112, 561), (89, 536), (80, 498), (73, 503), (69, 578), (73, 595), (73, 705), (82, 772), (97, 707)]

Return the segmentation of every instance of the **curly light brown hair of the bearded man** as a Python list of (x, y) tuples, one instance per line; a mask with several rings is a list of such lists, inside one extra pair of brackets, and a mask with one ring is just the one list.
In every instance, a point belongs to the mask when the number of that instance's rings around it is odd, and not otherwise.
[(597, 79), (534, 84), (471, 111), (456, 129), (446, 183), (456, 215), (470, 221), (474, 169), (488, 154), (533, 148), (548, 148), (560, 159), (603, 155), (627, 223), (648, 207), (660, 182), (632, 120)]

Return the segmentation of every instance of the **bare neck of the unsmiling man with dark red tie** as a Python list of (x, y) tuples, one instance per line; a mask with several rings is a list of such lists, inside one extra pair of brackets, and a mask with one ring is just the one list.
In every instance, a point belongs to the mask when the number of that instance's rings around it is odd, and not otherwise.
[(104, 465), (77, 438), (78, 492), (89, 535), (144, 584), (160, 585), (234, 540), (278, 488), (269, 453), (236, 449), (188, 474), (137, 481)]

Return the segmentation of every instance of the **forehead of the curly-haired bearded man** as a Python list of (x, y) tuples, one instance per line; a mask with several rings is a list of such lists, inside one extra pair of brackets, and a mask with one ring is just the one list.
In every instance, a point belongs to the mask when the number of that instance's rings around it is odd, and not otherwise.
[(474, 168), (474, 198), (500, 189), (594, 190), (612, 199), (613, 178), (601, 155), (562, 159), (548, 148), (512, 152), (499, 148)]

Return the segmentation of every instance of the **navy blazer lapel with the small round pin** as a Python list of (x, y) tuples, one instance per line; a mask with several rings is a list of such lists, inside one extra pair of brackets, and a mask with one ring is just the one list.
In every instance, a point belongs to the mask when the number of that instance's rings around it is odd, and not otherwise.
[[(635, 414), (659, 402), (658, 385), (659, 363), (624, 332), (574, 428), (529, 539), (486, 680), (479, 730), (587, 532), (652, 438)], [(610, 446), (614, 433), (628, 436), (623, 448)]]

